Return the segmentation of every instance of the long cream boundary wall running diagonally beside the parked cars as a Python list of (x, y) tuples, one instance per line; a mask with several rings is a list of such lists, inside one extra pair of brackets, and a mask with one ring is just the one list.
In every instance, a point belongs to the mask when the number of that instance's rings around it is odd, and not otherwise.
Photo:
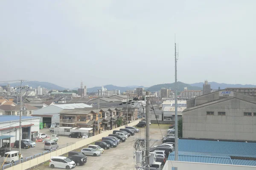
[[(139, 120), (136, 120), (134, 122), (131, 122), (128, 124), (128, 126), (134, 126), (134, 125), (137, 125), (137, 123), (139, 122)], [(120, 128), (125, 128), (125, 126), (121, 126), (121, 127), (118, 127), (118, 128), (115, 128), (113, 130), (119, 130)], [(67, 146), (67, 147), (63, 147), (63, 148), (60, 148), (56, 151), (53, 151), (51, 153), (47, 153), (45, 155), (42, 155), (42, 156), (39, 156), (35, 159), (31, 159), (29, 161), (25, 161), (21, 164), (17, 164), (15, 166), (12, 166), (12, 167), (9, 167), (9, 168), (4, 168), (4, 170), (26, 170), (26, 169), (29, 169), (31, 167), (34, 167), (38, 164), (41, 164), (45, 161), (48, 161), (50, 160), (50, 158), (52, 156), (60, 156), (64, 153), (67, 153), (71, 150), (75, 150), (75, 149), (78, 149), (79, 147), (83, 147), (87, 144), (90, 144), (92, 142), (95, 142), (97, 140), (100, 140), (102, 139), (102, 137), (105, 137), (105, 136), (108, 136), (109, 134), (112, 134), (113, 133), (113, 130), (109, 130), (109, 131), (106, 131), (106, 132), (103, 132), (103, 133), (100, 133), (96, 136), (92, 136), (90, 138), (87, 138), (87, 139), (82, 139), (78, 142), (76, 142), (75, 144), (72, 144), (70, 146)]]

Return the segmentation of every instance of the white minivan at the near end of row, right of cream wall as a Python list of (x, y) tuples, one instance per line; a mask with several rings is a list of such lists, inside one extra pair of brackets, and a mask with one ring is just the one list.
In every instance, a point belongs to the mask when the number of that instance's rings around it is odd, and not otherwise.
[(67, 170), (76, 167), (76, 163), (64, 156), (52, 156), (50, 159), (49, 167), (51, 168), (66, 168)]

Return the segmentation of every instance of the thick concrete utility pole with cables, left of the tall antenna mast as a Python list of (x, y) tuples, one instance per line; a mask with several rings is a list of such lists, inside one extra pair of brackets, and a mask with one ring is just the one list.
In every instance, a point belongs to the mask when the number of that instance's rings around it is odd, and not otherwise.
[[(149, 91), (146, 92), (146, 96), (150, 93)], [(146, 99), (146, 168), (149, 170), (149, 97)]]

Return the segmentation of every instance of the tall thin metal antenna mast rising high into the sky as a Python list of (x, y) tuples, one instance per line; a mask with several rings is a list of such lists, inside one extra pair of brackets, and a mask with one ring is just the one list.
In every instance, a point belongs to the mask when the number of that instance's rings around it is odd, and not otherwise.
[[(175, 42), (175, 161), (178, 161), (178, 115), (177, 115), (177, 52)], [(175, 167), (177, 170), (177, 167)]]

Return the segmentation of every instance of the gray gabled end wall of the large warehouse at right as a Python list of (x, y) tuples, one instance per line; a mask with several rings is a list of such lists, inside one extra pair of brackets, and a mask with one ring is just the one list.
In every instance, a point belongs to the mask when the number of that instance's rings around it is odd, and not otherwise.
[(256, 140), (256, 116), (244, 116), (244, 112), (253, 115), (256, 105), (235, 98), (183, 112), (183, 138)]

